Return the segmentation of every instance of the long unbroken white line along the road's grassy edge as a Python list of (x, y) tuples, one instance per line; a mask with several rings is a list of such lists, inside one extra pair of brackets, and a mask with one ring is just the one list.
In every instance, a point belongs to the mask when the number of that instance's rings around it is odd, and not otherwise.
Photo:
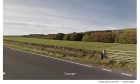
[(16, 50), (16, 51), (21, 51), (21, 52), (26, 52), (26, 53), (34, 54), (34, 55), (39, 55), (39, 56), (43, 56), (43, 57), (48, 57), (48, 58), (52, 58), (52, 59), (56, 59), (56, 60), (60, 60), (60, 61), (64, 61), (64, 62), (68, 62), (68, 63), (72, 63), (72, 64), (82, 65), (82, 66), (86, 66), (86, 67), (92, 67), (92, 66), (86, 65), (86, 64), (76, 63), (76, 62), (67, 61), (67, 60), (63, 60), (63, 59), (59, 59), (59, 58), (55, 58), (55, 57), (50, 57), (50, 56), (41, 55), (41, 54), (37, 54), (37, 53), (32, 53), (32, 52), (28, 52), (28, 51), (18, 50), (18, 49), (11, 48), (11, 47), (7, 47), (7, 48), (10, 48), (10, 49), (13, 49), (13, 50)]

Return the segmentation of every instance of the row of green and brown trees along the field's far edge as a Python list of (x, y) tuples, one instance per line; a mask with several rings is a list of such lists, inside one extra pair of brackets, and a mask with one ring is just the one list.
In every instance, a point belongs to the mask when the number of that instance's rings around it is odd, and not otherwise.
[(24, 37), (43, 38), (52, 40), (66, 40), (66, 41), (87, 41), (87, 42), (106, 42), (106, 43), (124, 43), (136, 44), (136, 31), (88, 31), (88, 32), (73, 32), (73, 33), (57, 33), (57, 34), (30, 34), (23, 35)]

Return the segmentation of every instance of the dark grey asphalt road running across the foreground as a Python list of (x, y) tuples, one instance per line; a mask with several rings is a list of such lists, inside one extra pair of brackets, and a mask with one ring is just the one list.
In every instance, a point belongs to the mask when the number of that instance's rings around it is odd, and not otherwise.
[(118, 72), (87, 67), (49, 57), (3, 48), (4, 80), (134, 80)]

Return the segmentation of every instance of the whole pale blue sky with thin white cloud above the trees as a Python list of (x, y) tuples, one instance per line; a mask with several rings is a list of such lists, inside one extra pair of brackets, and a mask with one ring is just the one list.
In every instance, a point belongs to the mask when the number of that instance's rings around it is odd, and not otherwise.
[(136, 0), (4, 0), (4, 35), (136, 28)]

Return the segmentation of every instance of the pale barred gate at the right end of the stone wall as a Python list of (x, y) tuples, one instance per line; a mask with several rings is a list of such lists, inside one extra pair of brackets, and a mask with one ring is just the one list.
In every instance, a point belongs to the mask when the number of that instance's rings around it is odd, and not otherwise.
[(136, 63), (136, 51), (122, 51), (106, 49), (106, 56), (114, 61)]

